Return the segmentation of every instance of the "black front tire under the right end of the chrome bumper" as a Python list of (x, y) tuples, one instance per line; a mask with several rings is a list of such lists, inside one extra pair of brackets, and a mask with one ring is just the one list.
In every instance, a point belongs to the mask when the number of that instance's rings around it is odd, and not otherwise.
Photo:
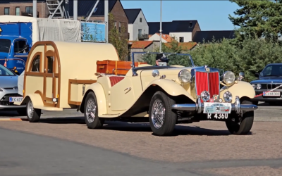
[[(241, 104), (252, 104), (252, 101), (244, 100)], [(226, 121), (226, 127), (231, 134), (244, 135), (250, 132), (254, 122), (255, 112), (241, 111), (241, 114), (237, 122), (233, 122), (232, 120)]]

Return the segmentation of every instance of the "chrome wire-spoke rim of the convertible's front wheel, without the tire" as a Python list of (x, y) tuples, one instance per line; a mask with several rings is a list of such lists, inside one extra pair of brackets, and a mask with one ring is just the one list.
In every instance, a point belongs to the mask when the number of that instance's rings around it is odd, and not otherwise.
[(154, 101), (151, 118), (155, 128), (159, 129), (164, 125), (165, 114), (166, 108), (164, 108), (164, 103), (160, 99)]

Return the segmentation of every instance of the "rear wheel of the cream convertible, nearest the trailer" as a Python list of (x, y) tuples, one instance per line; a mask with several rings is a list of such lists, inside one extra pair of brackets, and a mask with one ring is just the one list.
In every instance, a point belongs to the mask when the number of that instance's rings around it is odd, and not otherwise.
[[(94, 117), (91, 115), (94, 114)], [(98, 117), (98, 104), (94, 92), (87, 94), (84, 106), (85, 123), (89, 129), (102, 128), (104, 119)]]

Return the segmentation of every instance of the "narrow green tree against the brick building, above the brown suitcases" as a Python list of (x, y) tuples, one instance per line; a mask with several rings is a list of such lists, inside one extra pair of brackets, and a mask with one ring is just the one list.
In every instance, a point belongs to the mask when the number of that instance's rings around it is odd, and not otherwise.
[(127, 26), (121, 23), (121, 31), (117, 27), (118, 26), (115, 27), (114, 15), (109, 13), (109, 43), (116, 47), (121, 61), (125, 61), (125, 59), (128, 57), (128, 35), (126, 33)]

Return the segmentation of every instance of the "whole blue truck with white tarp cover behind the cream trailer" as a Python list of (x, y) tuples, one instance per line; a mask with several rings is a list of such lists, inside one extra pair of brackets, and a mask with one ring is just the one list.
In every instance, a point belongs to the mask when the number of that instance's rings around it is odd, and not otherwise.
[(38, 41), (81, 42), (79, 20), (0, 15), (0, 64), (25, 70), (32, 44)]

